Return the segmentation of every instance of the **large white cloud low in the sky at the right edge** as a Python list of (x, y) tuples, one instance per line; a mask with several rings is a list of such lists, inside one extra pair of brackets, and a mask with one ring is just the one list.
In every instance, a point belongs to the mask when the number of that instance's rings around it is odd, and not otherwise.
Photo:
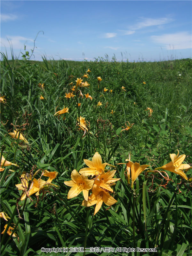
[(155, 43), (163, 44), (167, 50), (192, 48), (191, 35), (188, 32), (151, 36), (151, 39)]

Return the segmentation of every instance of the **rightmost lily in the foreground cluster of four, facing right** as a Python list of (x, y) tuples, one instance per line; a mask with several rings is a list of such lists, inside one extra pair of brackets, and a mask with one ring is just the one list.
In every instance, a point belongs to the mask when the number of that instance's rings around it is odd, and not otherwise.
[(102, 172), (98, 177), (95, 178), (94, 184), (96, 184), (100, 188), (113, 192), (113, 189), (108, 184), (112, 184), (117, 180), (120, 180), (120, 178), (119, 179), (112, 178), (115, 175), (115, 173), (116, 173), (116, 170), (108, 171), (106, 173)]

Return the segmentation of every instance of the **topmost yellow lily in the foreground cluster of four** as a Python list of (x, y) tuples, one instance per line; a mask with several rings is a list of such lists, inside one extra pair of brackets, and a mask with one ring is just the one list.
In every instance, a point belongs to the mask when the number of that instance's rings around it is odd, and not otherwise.
[(101, 174), (102, 171), (105, 170), (105, 166), (108, 164), (108, 163), (102, 164), (101, 155), (98, 152), (94, 154), (94, 156), (92, 157), (92, 161), (84, 159), (84, 162), (87, 166), (89, 166), (89, 168), (88, 167), (82, 168), (79, 171), (79, 173), (85, 173), (86, 176)]

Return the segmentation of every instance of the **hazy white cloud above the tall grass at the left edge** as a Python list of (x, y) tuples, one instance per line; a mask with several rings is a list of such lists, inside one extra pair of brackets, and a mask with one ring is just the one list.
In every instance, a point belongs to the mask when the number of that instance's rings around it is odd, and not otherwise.
[(11, 44), (13, 50), (24, 48), (24, 44), (27, 43), (27, 41), (34, 42), (32, 39), (29, 39), (23, 36), (6, 36), (6, 38), (0, 39), (1, 47), (9, 48)]

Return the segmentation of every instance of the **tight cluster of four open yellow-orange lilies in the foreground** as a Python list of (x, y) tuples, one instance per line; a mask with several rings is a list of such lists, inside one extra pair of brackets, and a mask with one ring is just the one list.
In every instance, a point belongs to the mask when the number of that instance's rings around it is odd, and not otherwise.
[[(79, 172), (73, 170), (71, 172), (71, 180), (65, 181), (65, 185), (71, 187), (68, 192), (68, 199), (78, 196), (83, 192), (83, 206), (92, 206), (96, 204), (94, 215), (100, 210), (103, 202), (111, 206), (117, 201), (110, 195), (113, 192), (111, 185), (120, 180), (113, 178), (116, 170), (109, 171), (105, 169), (108, 163), (102, 163), (101, 156), (98, 152), (92, 157), (92, 161), (84, 159), (84, 163), (88, 166), (82, 168)], [(92, 194), (89, 196), (89, 191)]]

